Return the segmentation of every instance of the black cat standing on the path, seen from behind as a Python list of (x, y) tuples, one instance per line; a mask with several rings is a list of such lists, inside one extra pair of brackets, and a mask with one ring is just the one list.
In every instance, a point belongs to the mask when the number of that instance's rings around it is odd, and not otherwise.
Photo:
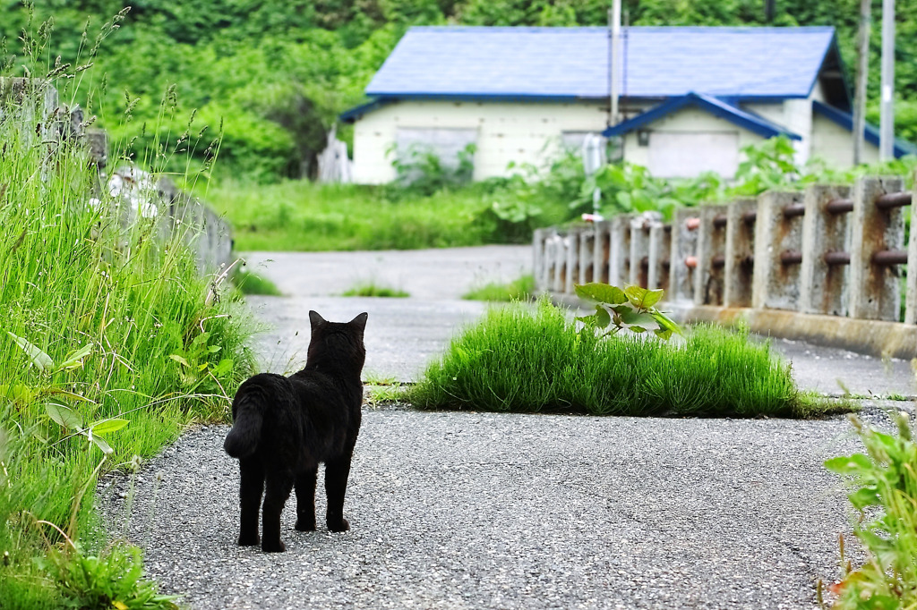
[(233, 427), (223, 448), (239, 460), (239, 545), (258, 544), (258, 509), (264, 493), (261, 549), (286, 550), (281, 511), (296, 487), (296, 529), (315, 529), (315, 479), (325, 463), (331, 531), (350, 528), (344, 493), (357, 442), (366, 359), (367, 313), (347, 323), (325, 321), (309, 311), (312, 339), (305, 368), (289, 377), (262, 373), (236, 392)]

